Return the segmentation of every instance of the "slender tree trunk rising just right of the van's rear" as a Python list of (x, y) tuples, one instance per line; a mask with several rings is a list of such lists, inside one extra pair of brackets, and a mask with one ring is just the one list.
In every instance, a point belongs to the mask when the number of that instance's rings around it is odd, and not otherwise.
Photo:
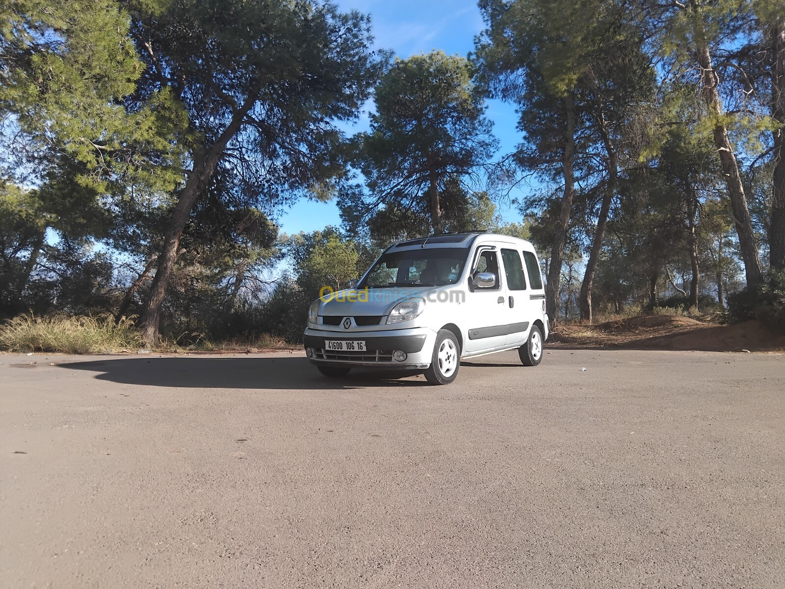
[(553, 234), (553, 247), (551, 247), (550, 251), (550, 269), (548, 283), (546, 284), (546, 309), (553, 325), (558, 323), (561, 262), (564, 258), (564, 245), (567, 243), (567, 232), (572, 212), (572, 195), (575, 191), (575, 173), (573, 170), (575, 159), (575, 108), (571, 93), (564, 97), (564, 109), (567, 116), (567, 124), (564, 127), (564, 155), (561, 159), (564, 174), (564, 196), (561, 199), (561, 210), (556, 224), (556, 232)]

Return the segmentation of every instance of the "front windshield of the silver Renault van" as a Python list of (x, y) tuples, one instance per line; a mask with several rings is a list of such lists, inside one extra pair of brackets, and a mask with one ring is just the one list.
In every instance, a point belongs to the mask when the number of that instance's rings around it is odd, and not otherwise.
[(360, 288), (441, 287), (461, 277), (469, 250), (458, 247), (395, 251), (383, 254)]

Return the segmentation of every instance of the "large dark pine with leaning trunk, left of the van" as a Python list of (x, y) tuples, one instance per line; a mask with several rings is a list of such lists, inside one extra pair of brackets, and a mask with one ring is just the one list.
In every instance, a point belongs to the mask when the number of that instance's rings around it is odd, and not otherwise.
[(335, 123), (356, 117), (379, 60), (367, 17), (330, 4), (176, 0), (155, 10), (134, 2), (131, 16), (146, 65), (133, 103), (166, 89), (188, 114), (189, 165), (141, 316), (152, 344), (195, 203), (212, 194), (270, 207), (329, 191), (345, 174)]

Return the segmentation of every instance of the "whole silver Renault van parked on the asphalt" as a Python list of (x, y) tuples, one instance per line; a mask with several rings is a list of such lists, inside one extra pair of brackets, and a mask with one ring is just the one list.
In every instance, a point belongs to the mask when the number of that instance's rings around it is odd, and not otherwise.
[(303, 343), (326, 376), (403, 368), (444, 385), (462, 358), (517, 349), (523, 364), (536, 366), (547, 338), (534, 247), (477, 232), (388, 247), (360, 280), (313, 302)]

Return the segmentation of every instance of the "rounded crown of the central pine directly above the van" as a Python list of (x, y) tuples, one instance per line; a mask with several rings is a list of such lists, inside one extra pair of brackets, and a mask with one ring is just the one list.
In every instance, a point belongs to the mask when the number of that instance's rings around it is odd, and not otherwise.
[[(374, 90), (371, 130), (357, 138), (356, 166), (368, 192), (349, 192), (344, 218), (422, 227), (440, 233), (480, 185), (496, 141), (474, 91), (472, 66), (442, 51), (392, 64)], [(381, 222), (380, 222), (381, 221)]]

